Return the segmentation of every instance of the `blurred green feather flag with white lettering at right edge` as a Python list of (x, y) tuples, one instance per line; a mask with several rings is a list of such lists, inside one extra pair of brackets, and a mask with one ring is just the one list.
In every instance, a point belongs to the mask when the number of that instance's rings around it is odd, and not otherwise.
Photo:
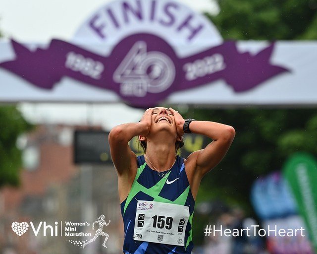
[(312, 244), (317, 250), (317, 161), (307, 153), (295, 153), (283, 168), (309, 231)]

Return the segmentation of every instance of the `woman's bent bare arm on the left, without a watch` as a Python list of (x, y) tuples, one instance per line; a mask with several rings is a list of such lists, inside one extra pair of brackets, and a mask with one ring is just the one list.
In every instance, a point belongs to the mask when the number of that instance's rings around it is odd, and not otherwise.
[(152, 109), (147, 109), (141, 122), (129, 123), (113, 127), (108, 135), (111, 159), (118, 175), (126, 174), (131, 167), (135, 154), (128, 142), (138, 135), (147, 135), (152, 124)]

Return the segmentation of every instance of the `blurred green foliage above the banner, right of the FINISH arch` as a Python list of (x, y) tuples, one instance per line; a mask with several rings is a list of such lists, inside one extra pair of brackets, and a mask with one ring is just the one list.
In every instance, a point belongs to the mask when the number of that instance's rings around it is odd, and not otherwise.
[(206, 14), (224, 39), (317, 39), (316, 0), (217, 0), (220, 13)]

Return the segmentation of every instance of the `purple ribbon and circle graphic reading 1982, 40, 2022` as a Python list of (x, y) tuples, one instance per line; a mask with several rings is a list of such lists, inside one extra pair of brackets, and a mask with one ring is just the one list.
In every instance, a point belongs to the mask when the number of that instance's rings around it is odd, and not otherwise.
[(289, 71), (269, 63), (274, 44), (253, 56), (225, 42), (179, 59), (158, 36), (134, 34), (119, 42), (108, 57), (60, 40), (31, 52), (11, 41), (16, 59), (0, 63), (33, 85), (53, 89), (63, 76), (115, 91), (134, 107), (155, 106), (169, 94), (223, 79), (235, 92), (248, 91)]

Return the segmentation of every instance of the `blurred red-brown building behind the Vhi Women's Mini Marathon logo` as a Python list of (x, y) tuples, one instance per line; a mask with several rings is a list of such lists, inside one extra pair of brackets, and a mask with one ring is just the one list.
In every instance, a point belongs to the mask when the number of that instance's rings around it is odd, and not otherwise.
[[(38, 126), (35, 131), (18, 140), (23, 149), (23, 169), (19, 188), (6, 187), (0, 191), (0, 252), (3, 254), (71, 254), (108, 253), (122, 251), (123, 223), (114, 167), (73, 163), (73, 132), (70, 126)], [(85, 249), (67, 240), (83, 237), (60, 236), (65, 222), (89, 222), (90, 227), (77, 228), (94, 236), (92, 223), (101, 215), (111, 223), (103, 231), (109, 234), (107, 248), (104, 237)], [(37, 236), (31, 228), (22, 236), (11, 230), (12, 222), (33, 222), (39, 226)], [(40, 227), (40, 223), (42, 226)], [(48, 228), (43, 236), (44, 222), (58, 228), (58, 237)], [(56, 223), (56, 224), (55, 224)], [(29, 223), (30, 224), (30, 223)], [(62, 228), (63, 229), (63, 228)], [(95, 225), (95, 229), (98, 226)], [(63, 231), (63, 230), (62, 230)], [(92, 237), (87, 237), (89, 240)]]

